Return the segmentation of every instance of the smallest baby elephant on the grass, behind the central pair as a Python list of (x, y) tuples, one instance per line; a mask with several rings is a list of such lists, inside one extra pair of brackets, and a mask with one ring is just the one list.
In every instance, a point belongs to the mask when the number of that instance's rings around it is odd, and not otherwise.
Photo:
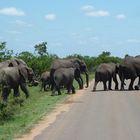
[(44, 91), (46, 91), (46, 86), (48, 86), (48, 88), (50, 87), (50, 72), (49, 71), (45, 71), (41, 74), (40, 77), (41, 80), (41, 91), (42, 89), (44, 89)]

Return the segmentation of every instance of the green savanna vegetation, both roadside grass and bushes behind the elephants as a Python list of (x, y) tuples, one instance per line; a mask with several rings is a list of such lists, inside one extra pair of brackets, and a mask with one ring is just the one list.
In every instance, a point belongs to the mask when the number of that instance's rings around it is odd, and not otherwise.
[[(42, 72), (49, 70), (53, 60), (59, 57), (50, 54), (47, 50), (47, 42), (42, 42), (34, 46), (34, 52), (23, 51), (15, 54), (13, 50), (8, 50), (6, 42), (0, 43), (0, 62), (16, 57), (23, 59), (38, 76)], [(110, 52), (102, 52), (99, 56), (82, 56), (80, 54), (69, 55), (66, 58), (79, 58), (85, 61), (89, 72), (93, 73), (100, 63), (119, 63), (121, 58), (111, 56)], [(90, 75), (93, 78), (93, 74)], [(76, 85), (76, 83), (75, 83)], [(62, 102), (67, 95), (50, 96), (50, 92), (41, 92), (40, 87), (29, 87), (30, 98), (21, 97), (13, 99), (10, 94), (8, 104), (0, 103), (0, 139), (11, 140), (31, 129), (44, 114), (50, 111), (56, 103)], [(63, 91), (64, 93), (65, 91)]]

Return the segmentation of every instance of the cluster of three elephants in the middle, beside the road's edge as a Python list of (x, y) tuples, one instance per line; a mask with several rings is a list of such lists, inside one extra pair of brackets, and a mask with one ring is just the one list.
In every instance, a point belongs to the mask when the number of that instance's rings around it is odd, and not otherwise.
[(79, 88), (83, 89), (83, 78), (81, 74), (86, 75), (86, 87), (89, 84), (89, 75), (86, 64), (80, 59), (57, 59), (52, 62), (50, 71), (46, 71), (41, 75), (41, 90), (46, 90), (46, 86), (51, 87), (52, 96), (56, 91), (61, 94), (60, 89), (65, 87), (68, 93), (75, 93), (73, 80), (78, 82)]

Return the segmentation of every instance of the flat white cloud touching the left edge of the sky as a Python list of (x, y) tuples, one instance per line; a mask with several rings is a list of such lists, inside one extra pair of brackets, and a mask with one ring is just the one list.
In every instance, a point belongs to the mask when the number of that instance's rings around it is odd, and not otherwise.
[(19, 9), (16, 9), (15, 7), (9, 7), (9, 8), (2, 8), (0, 9), (0, 15), (6, 15), (6, 16), (24, 16), (25, 13)]

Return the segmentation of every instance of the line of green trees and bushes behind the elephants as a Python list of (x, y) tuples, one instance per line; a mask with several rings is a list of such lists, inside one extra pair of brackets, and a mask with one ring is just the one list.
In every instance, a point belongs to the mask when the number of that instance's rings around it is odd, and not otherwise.
[[(53, 60), (58, 59), (59, 57), (56, 54), (50, 54), (47, 50), (47, 42), (42, 42), (34, 46), (34, 52), (23, 51), (17, 54), (14, 54), (13, 50), (8, 50), (6, 42), (0, 42), (0, 62), (16, 57), (23, 59), (29, 67), (31, 67), (37, 75), (40, 75), (42, 72), (49, 70)], [(65, 58), (79, 58), (83, 60), (90, 72), (93, 72), (95, 68), (101, 63), (119, 63), (121, 58), (111, 56), (111, 53), (108, 51), (103, 51), (97, 57), (94, 56), (82, 56), (80, 54), (73, 54), (66, 56)]]

